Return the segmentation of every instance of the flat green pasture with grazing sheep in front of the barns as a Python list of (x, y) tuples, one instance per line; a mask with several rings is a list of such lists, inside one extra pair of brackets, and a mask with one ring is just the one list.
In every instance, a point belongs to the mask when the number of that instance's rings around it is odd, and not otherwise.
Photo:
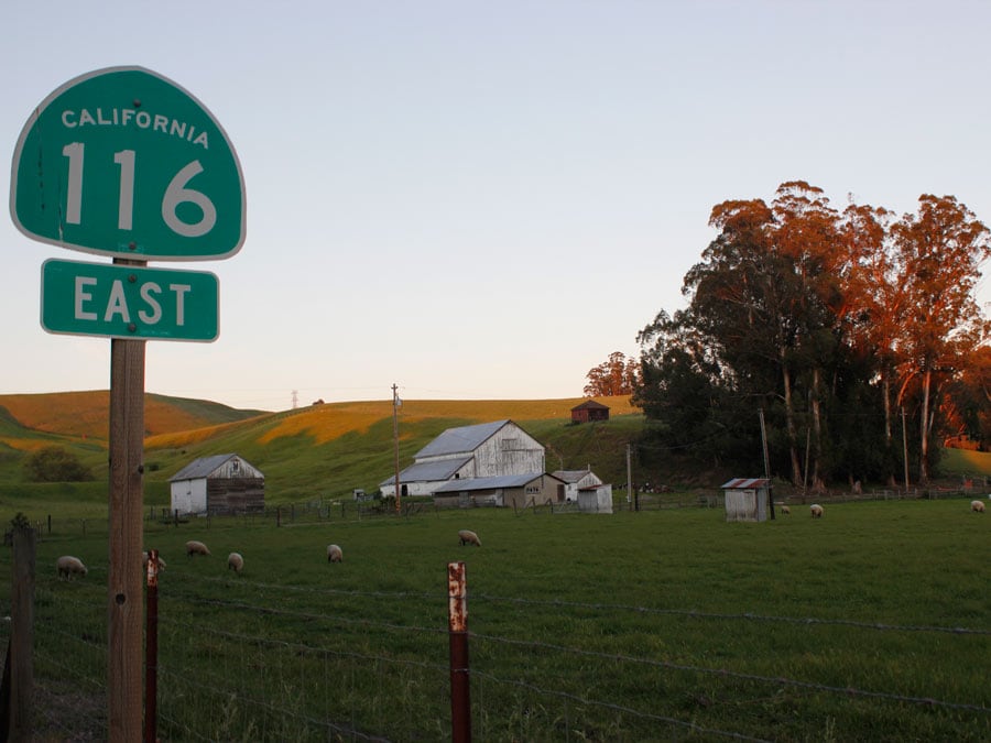
[[(160, 734), (449, 737), (447, 564), (464, 560), (476, 740), (985, 741), (989, 518), (955, 498), (761, 524), (719, 509), (148, 521), (167, 561)], [(190, 538), (213, 556), (186, 557)], [(76, 724), (98, 733), (107, 551), (106, 529), (57, 524), (37, 545), (37, 682), (73, 679), (91, 702)], [(56, 580), (62, 554), (89, 575)]]

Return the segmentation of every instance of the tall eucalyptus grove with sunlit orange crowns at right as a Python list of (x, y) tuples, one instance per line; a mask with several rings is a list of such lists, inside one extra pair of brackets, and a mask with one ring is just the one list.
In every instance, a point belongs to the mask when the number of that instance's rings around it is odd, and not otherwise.
[[(717, 205), (709, 223), (687, 307), (638, 335), (631, 389), (656, 449), (753, 471), (761, 414), (773, 472), (815, 488), (896, 483), (910, 468), (925, 483), (944, 437), (988, 437), (974, 289), (991, 236), (963, 204), (926, 194), (901, 217), (852, 198), (839, 210), (789, 182), (771, 204)], [(629, 381), (613, 357), (599, 378)]]

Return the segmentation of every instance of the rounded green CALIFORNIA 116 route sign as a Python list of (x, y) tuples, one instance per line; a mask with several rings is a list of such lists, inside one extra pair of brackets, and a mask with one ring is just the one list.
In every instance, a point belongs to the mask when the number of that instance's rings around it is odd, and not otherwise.
[(214, 116), (142, 67), (81, 75), (32, 112), (10, 214), (33, 240), (134, 260), (229, 258), (244, 242), (244, 179)]

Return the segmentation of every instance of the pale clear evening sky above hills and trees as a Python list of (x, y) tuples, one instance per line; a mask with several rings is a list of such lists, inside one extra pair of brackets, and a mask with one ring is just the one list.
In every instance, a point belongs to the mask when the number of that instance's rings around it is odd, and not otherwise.
[[(725, 200), (806, 181), (838, 209), (952, 195), (991, 223), (989, 31), (978, 0), (7, 2), (0, 152), (56, 88), (117, 66), (226, 130), (243, 247), (150, 264), (218, 276), (219, 337), (149, 341), (148, 392), (578, 397), (685, 305)], [(46, 332), (40, 306), (45, 260), (109, 259), (9, 210), (0, 254), (0, 394), (108, 389), (110, 341)]]

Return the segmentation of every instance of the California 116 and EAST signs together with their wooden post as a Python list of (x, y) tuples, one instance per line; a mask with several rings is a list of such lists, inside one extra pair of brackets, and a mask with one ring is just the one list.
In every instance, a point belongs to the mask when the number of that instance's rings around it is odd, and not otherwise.
[[(48, 261), (42, 325), (110, 337), (109, 740), (141, 740), (144, 346), (217, 337), (217, 281), (149, 260), (230, 258), (244, 242), (241, 166), (214, 116), (142, 67), (76, 77), (14, 150), (10, 214), (33, 240), (113, 259)], [(154, 706), (152, 706), (153, 708)]]

